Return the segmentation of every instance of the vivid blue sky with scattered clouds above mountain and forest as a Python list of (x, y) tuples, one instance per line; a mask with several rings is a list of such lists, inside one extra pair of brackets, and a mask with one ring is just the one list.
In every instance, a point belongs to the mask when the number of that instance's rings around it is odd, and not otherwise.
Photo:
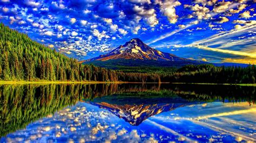
[(253, 1), (0, 0), (0, 21), (78, 60), (140, 38), (183, 58), (256, 63)]

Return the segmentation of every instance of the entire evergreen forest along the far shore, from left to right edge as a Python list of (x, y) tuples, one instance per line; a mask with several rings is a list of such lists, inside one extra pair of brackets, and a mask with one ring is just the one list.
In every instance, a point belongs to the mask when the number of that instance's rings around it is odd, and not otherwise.
[[(166, 72), (127, 72), (83, 65), (55, 49), (31, 40), (28, 35), (0, 24), (0, 81), (101, 81), (255, 83), (254, 65), (215, 67), (187, 65)], [(163, 69), (156, 67), (156, 69)]]

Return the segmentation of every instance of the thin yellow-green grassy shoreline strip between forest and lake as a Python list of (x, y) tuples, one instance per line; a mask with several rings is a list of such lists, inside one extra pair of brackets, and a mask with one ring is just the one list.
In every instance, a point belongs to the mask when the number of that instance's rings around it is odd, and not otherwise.
[(140, 84), (201, 84), (201, 85), (240, 85), (240, 86), (256, 86), (256, 83), (184, 83), (184, 82), (100, 82), (100, 81), (0, 81), (0, 85), (3, 84), (71, 84), (71, 83), (81, 83), (81, 84), (105, 84), (105, 83), (114, 83), (114, 84), (124, 84), (124, 83), (140, 83)]

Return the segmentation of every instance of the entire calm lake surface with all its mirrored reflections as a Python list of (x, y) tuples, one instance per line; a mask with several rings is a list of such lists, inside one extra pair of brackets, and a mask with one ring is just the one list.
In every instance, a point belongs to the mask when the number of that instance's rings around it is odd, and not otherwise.
[(256, 87), (0, 85), (1, 142), (256, 141)]

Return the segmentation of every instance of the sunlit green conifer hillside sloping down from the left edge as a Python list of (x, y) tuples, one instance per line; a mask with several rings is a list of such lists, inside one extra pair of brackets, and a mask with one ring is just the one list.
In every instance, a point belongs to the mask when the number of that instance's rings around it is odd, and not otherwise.
[(117, 81), (116, 71), (82, 65), (76, 59), (0, 24), (0, 80)]

